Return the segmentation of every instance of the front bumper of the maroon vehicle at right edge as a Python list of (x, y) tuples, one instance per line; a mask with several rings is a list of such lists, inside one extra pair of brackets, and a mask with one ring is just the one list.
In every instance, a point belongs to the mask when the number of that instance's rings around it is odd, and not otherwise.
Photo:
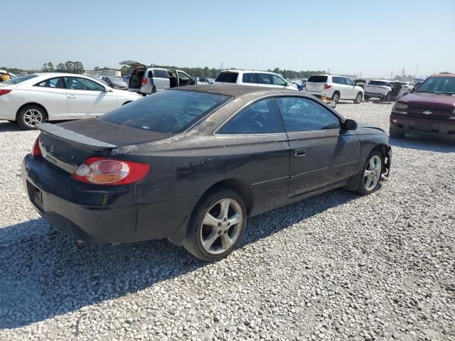
[(455, 121), (408, 117), (390, 114), (390, 129), (400, 133), (419, 134), (438, 139), (455, 140)]

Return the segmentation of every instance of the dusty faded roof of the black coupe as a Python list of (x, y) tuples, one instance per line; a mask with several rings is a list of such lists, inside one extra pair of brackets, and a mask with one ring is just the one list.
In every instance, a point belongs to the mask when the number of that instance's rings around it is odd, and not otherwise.
[(248, 85), (189, 85), (186, 87), (173, 88), (171, 90), (186, 90), (210, 92), (212, 94), (226, 94), (234, 98), (250, 94), (301, 94), (296, 90), (274, 89), (270, 87), (250, 87)]

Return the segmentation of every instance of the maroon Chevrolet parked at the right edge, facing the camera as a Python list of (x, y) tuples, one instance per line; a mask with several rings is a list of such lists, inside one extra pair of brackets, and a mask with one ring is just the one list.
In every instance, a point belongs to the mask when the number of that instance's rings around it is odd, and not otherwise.
[(455, 73), (432, 75), (395, 103), (390, 136), (402, 139), (405, 134), (455, 140)]

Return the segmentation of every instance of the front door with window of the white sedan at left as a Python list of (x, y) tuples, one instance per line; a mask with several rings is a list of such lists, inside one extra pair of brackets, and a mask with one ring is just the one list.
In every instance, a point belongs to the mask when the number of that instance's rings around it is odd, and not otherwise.
[(118, 107), (115, 92), (84, 77), (65, 77), (70, 117), (97, 117)]

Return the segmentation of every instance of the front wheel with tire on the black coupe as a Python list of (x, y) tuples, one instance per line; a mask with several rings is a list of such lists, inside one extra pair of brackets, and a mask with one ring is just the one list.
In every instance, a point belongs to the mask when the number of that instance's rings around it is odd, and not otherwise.
[(363, 165), (360, 180), (355, 192), (362, 195), (368, 195), (378, 190), (383, 165), (384, 156), (382, 156), (382, 153), (379, 151), (372, 151)]

